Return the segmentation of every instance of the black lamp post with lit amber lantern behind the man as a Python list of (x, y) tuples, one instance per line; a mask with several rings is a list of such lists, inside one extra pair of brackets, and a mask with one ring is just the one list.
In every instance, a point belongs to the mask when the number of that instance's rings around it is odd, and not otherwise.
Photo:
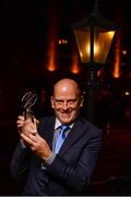
[(94, 121), (97, 71), (106, 62), (116, 25), (105, 20), (97, 9), (97, 0), (90, 15), (72, 25), (81, 62), (87, 69), (87, 118)]

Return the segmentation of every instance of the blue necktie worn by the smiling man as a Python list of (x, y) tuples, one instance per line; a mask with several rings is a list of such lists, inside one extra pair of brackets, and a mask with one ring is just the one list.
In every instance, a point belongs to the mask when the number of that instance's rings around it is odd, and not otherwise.
[(64, 139), (66, 139), (66, 132), (70, 129), (70, 127), (68, 125), (61, 125), (59, 127), (59, 137), (57, 139), (57, 142), (56, 142), (56, 147), (55, 147), (55, 152), (58, 153)]

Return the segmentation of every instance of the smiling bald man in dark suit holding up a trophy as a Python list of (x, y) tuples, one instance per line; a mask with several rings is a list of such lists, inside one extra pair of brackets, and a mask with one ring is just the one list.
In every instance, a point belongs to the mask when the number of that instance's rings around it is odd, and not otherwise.
[[(34, 118), (32, 123), (19, 116), (21, 140), (11, 162), (11, 174), (17, 176), (28, 170), (23, 195), (88, 193), (102, 130), (80, 117), (82, 106), (83, 96), (76, 82), (62, 79), (55, 84), (51, 96), (55, 117), (45, 117), (39, 123)], [(60, 141), (61, 125), (67, 130), (63, 142)]]

